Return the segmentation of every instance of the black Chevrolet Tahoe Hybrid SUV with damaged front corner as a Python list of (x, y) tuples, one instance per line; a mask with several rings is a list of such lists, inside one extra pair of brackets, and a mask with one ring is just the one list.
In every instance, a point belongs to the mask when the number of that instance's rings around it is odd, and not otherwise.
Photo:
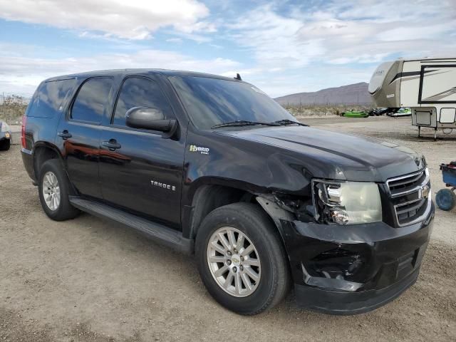
[(418, 278), (434, 205), (423, 155), (299, 123), (237, 78), (164, 70), (43, 81), (22, 156), (44, 212), (82, 210), (195, 254), (239, 314), (356, 314)]

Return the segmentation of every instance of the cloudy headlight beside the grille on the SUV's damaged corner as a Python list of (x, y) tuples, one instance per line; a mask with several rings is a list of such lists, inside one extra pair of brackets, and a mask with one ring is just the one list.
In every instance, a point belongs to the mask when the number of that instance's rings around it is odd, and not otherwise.
[(312, 188), (318, 221), (360, 224), (382, 220), (380, 191), (375, 183), (314, 180)]

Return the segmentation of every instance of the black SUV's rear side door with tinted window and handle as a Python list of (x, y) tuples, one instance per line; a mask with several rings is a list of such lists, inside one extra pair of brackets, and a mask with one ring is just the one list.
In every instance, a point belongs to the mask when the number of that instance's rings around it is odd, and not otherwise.
[(110, 111), (112, 85), (110, 77), (84, 81), (57, 129), (56, 140), (63, 143), (63, 157), (71, 182), (81, 195), (97, 199), (102, 197), (98, 178), (100, 125)]

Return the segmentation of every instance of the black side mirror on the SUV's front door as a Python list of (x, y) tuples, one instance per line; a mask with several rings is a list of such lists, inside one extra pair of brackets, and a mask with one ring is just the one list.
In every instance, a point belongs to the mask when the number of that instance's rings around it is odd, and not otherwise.
[[(158, 130), (164, 133), (174, 133), (177, 128), (176, 120), (165, 119), (160, 109), (151, 107), (133, 107), (125, 113), (128, 127), (145, 130)], [(168, 134), (168, 137), (170, 134)]]

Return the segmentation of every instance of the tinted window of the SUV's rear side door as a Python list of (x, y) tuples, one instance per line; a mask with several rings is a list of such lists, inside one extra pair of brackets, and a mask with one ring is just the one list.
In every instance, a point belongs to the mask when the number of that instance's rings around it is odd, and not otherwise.
[(112, 78), (91, 78), (83, 83), (71, 108), (71, 118), (101, 123), (112, 84)]

